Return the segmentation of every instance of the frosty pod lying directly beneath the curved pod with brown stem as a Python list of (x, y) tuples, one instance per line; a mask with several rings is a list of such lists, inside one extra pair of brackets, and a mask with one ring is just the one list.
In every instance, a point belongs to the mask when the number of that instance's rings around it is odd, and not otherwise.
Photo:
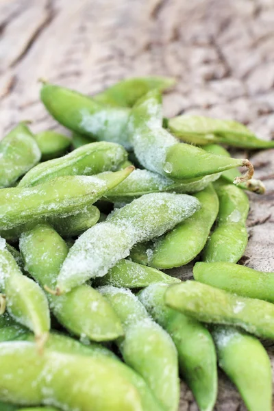
[(175, 181), (152, 171), (136, 169), (119, 186), (108, 191), (106, 197), (113, 202), (129, 202), (151, 192), (192, 193), (203, 190), (210, 182), (219, 179), (220, 175), (216, 173), (197, 179)]

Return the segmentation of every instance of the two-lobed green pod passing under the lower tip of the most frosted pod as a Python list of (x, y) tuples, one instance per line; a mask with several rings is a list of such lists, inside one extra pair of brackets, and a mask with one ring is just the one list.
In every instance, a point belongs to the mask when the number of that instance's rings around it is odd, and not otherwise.
[[(55, 288), (60, 266), (69, 248), (55, 230), (46, 224), (36, 225), (20, 238), (20, 249), (27, 271), (40, 286)], [(57, 297), (47, 293), (58, 321), (77, 336), (91, 340), (113, 340), (123, 335), (118, 316), (99, 292), (88, 285), (74, 288)]]

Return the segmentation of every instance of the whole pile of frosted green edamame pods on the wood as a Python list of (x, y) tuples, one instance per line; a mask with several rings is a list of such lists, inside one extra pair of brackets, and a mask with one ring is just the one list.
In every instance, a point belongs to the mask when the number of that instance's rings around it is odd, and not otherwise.
[[(172, 85), (126, 79), (88, 97), (44, 82), (71, 136), (20, 123), (1, 140), (1, 411), (177, 411), (179, 377), (210, 411), (217, 364), (249, 411), (272, 410), (260, 338), (274, 339), (274, 273), (236, 264), (245, 190), (264, 186), (221, 145), (274, 141), (165, 119)], [(191, 261), (194, 280), (160, 271)]]

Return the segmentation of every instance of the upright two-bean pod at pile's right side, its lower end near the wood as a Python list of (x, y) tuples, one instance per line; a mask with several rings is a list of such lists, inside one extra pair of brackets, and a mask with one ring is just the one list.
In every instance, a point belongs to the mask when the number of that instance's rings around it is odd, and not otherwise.
[(214, 185), (219, 197), (217, 225), (203, 249), (206, 262), (237, 262), (247, 247), (245, 221), (249, 212), (249, 199), (245, 192), (233, 184)]

